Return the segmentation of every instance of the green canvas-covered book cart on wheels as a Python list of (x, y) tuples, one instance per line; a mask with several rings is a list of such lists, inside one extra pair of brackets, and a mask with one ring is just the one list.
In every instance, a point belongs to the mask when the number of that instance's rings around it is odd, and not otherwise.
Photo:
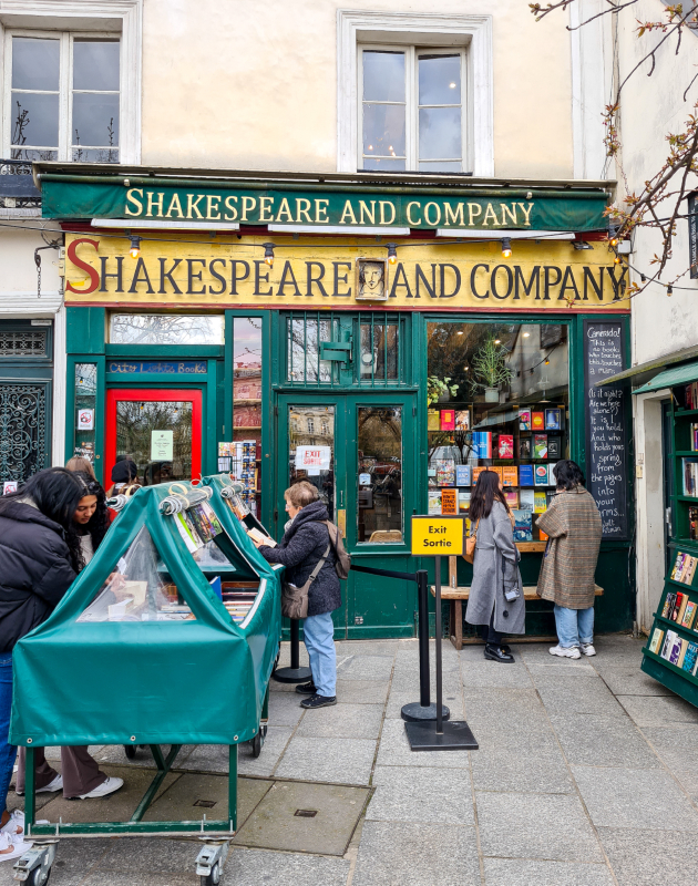
[[(140, 490), (51, 617), (17, 645), (10, 741), (27, 749), (33, 841), (17, 879), (42, 886), (61, 837), (197, 835), (196, 873), (218, 883), (237, 826), (237, 749), (261, 750), (281, 635), (280, 569), (247, 537), (229, 487), (214, 476)], [(130, 821), (37, 824), (34, 749), (89, 744), (130, 756), (150, 745), (157, 772)], [(184, 744), (228, 745), (224, 820), (145, 820)]]

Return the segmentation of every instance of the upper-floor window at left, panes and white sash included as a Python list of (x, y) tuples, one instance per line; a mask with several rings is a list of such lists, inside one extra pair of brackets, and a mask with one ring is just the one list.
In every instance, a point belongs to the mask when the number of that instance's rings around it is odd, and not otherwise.
[(120, 40), (57, 32), (7, 39), (4, 155), (119, 163)]

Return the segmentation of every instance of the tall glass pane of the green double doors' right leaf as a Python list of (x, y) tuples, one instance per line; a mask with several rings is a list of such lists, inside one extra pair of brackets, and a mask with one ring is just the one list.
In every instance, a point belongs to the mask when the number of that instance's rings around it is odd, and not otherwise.
[(357, 539), (402, 543), (402, 410), (357, 410), (359, 513)]

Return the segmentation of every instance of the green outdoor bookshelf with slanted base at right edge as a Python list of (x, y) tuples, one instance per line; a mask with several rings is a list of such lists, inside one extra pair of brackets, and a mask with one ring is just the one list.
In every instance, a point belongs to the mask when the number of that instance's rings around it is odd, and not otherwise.
[(698, 382), (673, 388), (670, 564), (641, 669), (698, 707)]

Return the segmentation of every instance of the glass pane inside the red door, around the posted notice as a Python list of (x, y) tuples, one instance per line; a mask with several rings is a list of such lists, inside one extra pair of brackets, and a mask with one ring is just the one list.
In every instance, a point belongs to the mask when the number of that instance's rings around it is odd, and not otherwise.
[[(151, 459), (153, 431), (172, 431), (172, 459)], [(143, 486), (192, 480), (192, 403), (116, 401), (116, 455), (136, 463)]]

